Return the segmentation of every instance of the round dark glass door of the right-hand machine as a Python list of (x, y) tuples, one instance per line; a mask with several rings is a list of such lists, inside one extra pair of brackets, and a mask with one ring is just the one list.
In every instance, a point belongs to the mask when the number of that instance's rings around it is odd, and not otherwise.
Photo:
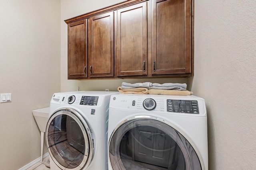
[(113, 170), (202, 170), (190, 143), (167, 122), (136, 116), (120, 124), (109, 140)]

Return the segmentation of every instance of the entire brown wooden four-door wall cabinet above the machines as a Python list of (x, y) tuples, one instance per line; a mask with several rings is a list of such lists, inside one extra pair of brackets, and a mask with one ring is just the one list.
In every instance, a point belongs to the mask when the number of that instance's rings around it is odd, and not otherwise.
[(65, 20), (68, 79), (194, 75), (192, 0), (127, 0)]

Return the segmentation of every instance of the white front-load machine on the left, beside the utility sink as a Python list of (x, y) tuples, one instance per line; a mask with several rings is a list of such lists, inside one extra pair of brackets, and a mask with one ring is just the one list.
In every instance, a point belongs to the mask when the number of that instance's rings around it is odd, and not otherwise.
[(117, 92), (55, 93), (46, 146), (51, 170), (107, 170), (108, 107)]

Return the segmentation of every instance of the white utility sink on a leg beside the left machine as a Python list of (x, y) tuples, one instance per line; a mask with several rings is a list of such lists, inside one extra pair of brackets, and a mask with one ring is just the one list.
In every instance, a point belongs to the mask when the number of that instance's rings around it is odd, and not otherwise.
[(49, 118), (50, 107), (32, 110), (36, 123), (41, 131), (41, 161), (43, 161), (44, 132)]

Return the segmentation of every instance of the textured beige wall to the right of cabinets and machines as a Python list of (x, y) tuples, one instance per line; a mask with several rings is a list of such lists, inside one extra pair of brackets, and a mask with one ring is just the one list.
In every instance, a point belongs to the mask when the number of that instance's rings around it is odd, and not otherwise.
[(255, 9), (255, 0), (195, 0), (188, 82), (206, 100), (210, 170), (256, 168)]

